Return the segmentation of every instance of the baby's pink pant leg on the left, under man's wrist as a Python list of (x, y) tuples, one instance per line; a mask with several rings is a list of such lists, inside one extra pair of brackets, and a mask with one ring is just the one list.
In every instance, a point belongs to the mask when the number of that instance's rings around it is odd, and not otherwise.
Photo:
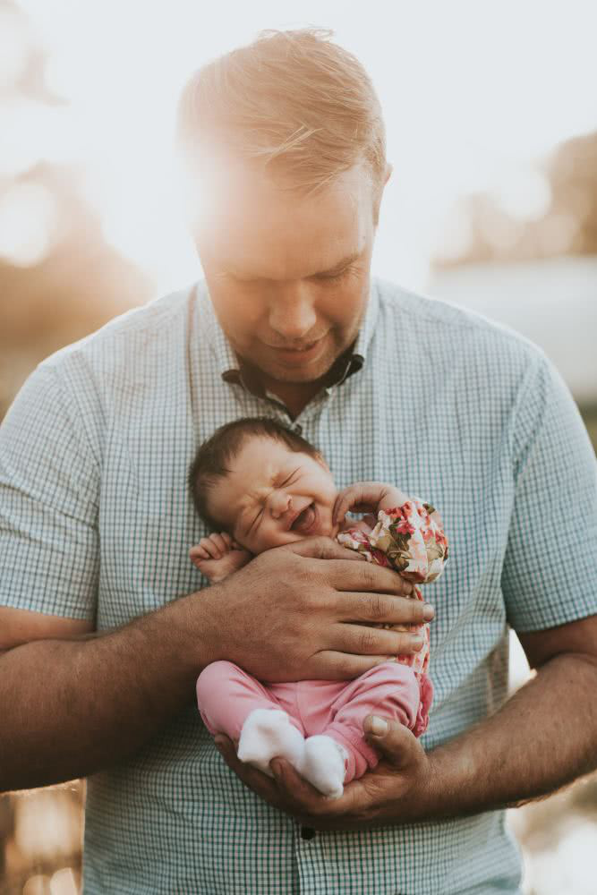
[[(275, 695), (232, 662), (212, 662), (197, 678), (197, 703), (209, 733), (225, 733), (238, 742), (243, 723), (254, 709), (283, 709)], [(301, 733), (300, 723), (290, 718)]]

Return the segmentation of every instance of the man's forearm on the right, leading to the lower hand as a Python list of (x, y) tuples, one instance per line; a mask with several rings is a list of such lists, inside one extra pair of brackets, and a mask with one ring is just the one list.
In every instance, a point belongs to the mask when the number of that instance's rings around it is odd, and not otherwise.
[(478, 814), (545, 796), (597, 767), (597, 664), (562, 654), (499, 712), (430, 754), (425, 817)]

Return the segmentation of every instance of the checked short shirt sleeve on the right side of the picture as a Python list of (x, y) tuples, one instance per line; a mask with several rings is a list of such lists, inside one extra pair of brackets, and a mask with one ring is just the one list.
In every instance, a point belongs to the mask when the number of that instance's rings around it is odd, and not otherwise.
[(512, 433), (515, 499), (501, 577), (507, 620), (542, 630), (597, 612), (597, 466), (580, 413), (543, 355)]

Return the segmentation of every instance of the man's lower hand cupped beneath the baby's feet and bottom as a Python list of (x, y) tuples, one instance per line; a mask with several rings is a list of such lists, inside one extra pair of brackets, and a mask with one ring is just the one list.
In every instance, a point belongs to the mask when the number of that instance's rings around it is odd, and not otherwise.
[[(382, 723), (384, 719), (378, 719)], [(274, 780), (249, 764), (240, 762), (227, 737), (216, 737), (226, 764), (270, 805), (290, 814), (303, 826), (315, 830), (368, 830), (390, 823), (413, 823), (425, 817), (431, 788), (431, 761), (410, 730), (395, 720), (385, 720), (386, 732), (374, 733), (376, 719), (365, 719), (367, 742), (381, 756), (374, 771), (345, 787), (338, 799), (327, 799), (282, 758), (274, 758), (270, 769)]]

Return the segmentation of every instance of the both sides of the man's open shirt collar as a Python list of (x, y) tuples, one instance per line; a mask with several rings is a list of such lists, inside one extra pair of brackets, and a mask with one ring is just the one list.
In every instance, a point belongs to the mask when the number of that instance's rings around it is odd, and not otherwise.
[[(225, 382), (240, 383), (242, 381), (241, 371), (239, 370), (234, 348), (230, 345), (224, 330), (219, 324), (219, 320), (217, 320), (216, 311), (214, 311), (213, 304), (209, 298), (208, 286), (205, 280), (201, 280), (197, 285), (197, 297), (199, 300), (198, 308), (201, 328), (208, 334), (209, 349), (216, 360), (217, 373)], [(365, 311), (359, 334), (354, 343), (353, 353), (347, 361), (343, 360), (340, 363), (337, 370), (332, 369), (330, 386), (342, 385), (345, 379), (362, 369), (375, 331), (379, 308), (380, 298), (377, 282), (371, 277), (369, 302), (367, 303), (367, 310)]]

